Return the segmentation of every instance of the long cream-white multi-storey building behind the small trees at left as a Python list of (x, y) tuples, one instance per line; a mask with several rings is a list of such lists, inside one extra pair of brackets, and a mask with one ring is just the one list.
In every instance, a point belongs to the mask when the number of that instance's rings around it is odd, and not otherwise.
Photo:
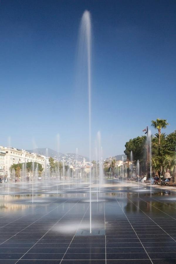
[(4, 147), (5, 151), (5, 175), (10, 177), (10, 166), (18, 163), (25, 162), (37, 162), (42, 165), (43, 170), (45, 170), (45, 156), (40, 156), (36, 153), (29, 153), (26, 150)]

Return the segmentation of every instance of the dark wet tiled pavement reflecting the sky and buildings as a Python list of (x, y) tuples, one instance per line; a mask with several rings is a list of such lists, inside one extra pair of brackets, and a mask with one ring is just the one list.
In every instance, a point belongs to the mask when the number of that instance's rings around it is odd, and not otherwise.
[[(95, 181), (96, 182), (96, 181)], [(98, 190), (98, 202), (97, 202)], [(166, 264), (176, 262), (176, 195), (106, 180), (89, 185), (55, 182), (0, 185), (0, 263)]]

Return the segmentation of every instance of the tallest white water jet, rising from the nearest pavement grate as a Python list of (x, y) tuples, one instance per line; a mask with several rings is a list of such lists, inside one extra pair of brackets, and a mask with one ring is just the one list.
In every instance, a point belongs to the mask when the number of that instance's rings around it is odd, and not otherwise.
[(89, 11), (85, 10), (80, 25), (80, 48), (85, 48), (86, 67), (87, 67), (87, 85), (88, 85), (88, 102), (89, 102), (89, 204), (90, 204), (90, 233), (92, 233), (92, 208), (91, 208), (91, 18)]

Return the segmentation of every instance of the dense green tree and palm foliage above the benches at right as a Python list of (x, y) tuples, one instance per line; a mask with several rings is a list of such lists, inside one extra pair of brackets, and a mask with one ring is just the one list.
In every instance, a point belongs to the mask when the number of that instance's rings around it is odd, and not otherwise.
[[(166, 128), (167, 125), (166, 119), (152, 120), (152, 126), (158, 129), (158, 133), (151, 135), (152, 174), (162, 176), (169, 171), (176, 180), (176, 130), (168, 135), (161, 133), (161, 129)], [(143, 170), (144, 173), (148, 171), (150, 174), (150, 146), (146, 139), (145, 136), (130, 139), (125, 144), (124, 153), (130, 160), (132, 150), (134, 163), (139, 160), (141, 171)]]

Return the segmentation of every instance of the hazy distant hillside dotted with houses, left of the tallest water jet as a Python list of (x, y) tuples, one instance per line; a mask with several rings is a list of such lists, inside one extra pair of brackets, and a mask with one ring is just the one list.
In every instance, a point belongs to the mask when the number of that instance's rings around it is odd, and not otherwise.
[(71, 162), (73, 163), (74, 160), (77, 161), (82, 161), (84, 158), (86, 161), (89, 161), (89, 158), (84, 157), (82, 155), (76, 155), (76, 153), (66, 153), (63, 154), (61, 152), (57, 153), (57, 151), (51, 149), (51, 148), (35, 148), (33, 150), (26, 150), (30, 153), (37, 153), (39, 155), (44, 155), (44, 156), (48, 156), (48, 157), (53, 157), (56, 160), (65, 160), (66, 162)]

